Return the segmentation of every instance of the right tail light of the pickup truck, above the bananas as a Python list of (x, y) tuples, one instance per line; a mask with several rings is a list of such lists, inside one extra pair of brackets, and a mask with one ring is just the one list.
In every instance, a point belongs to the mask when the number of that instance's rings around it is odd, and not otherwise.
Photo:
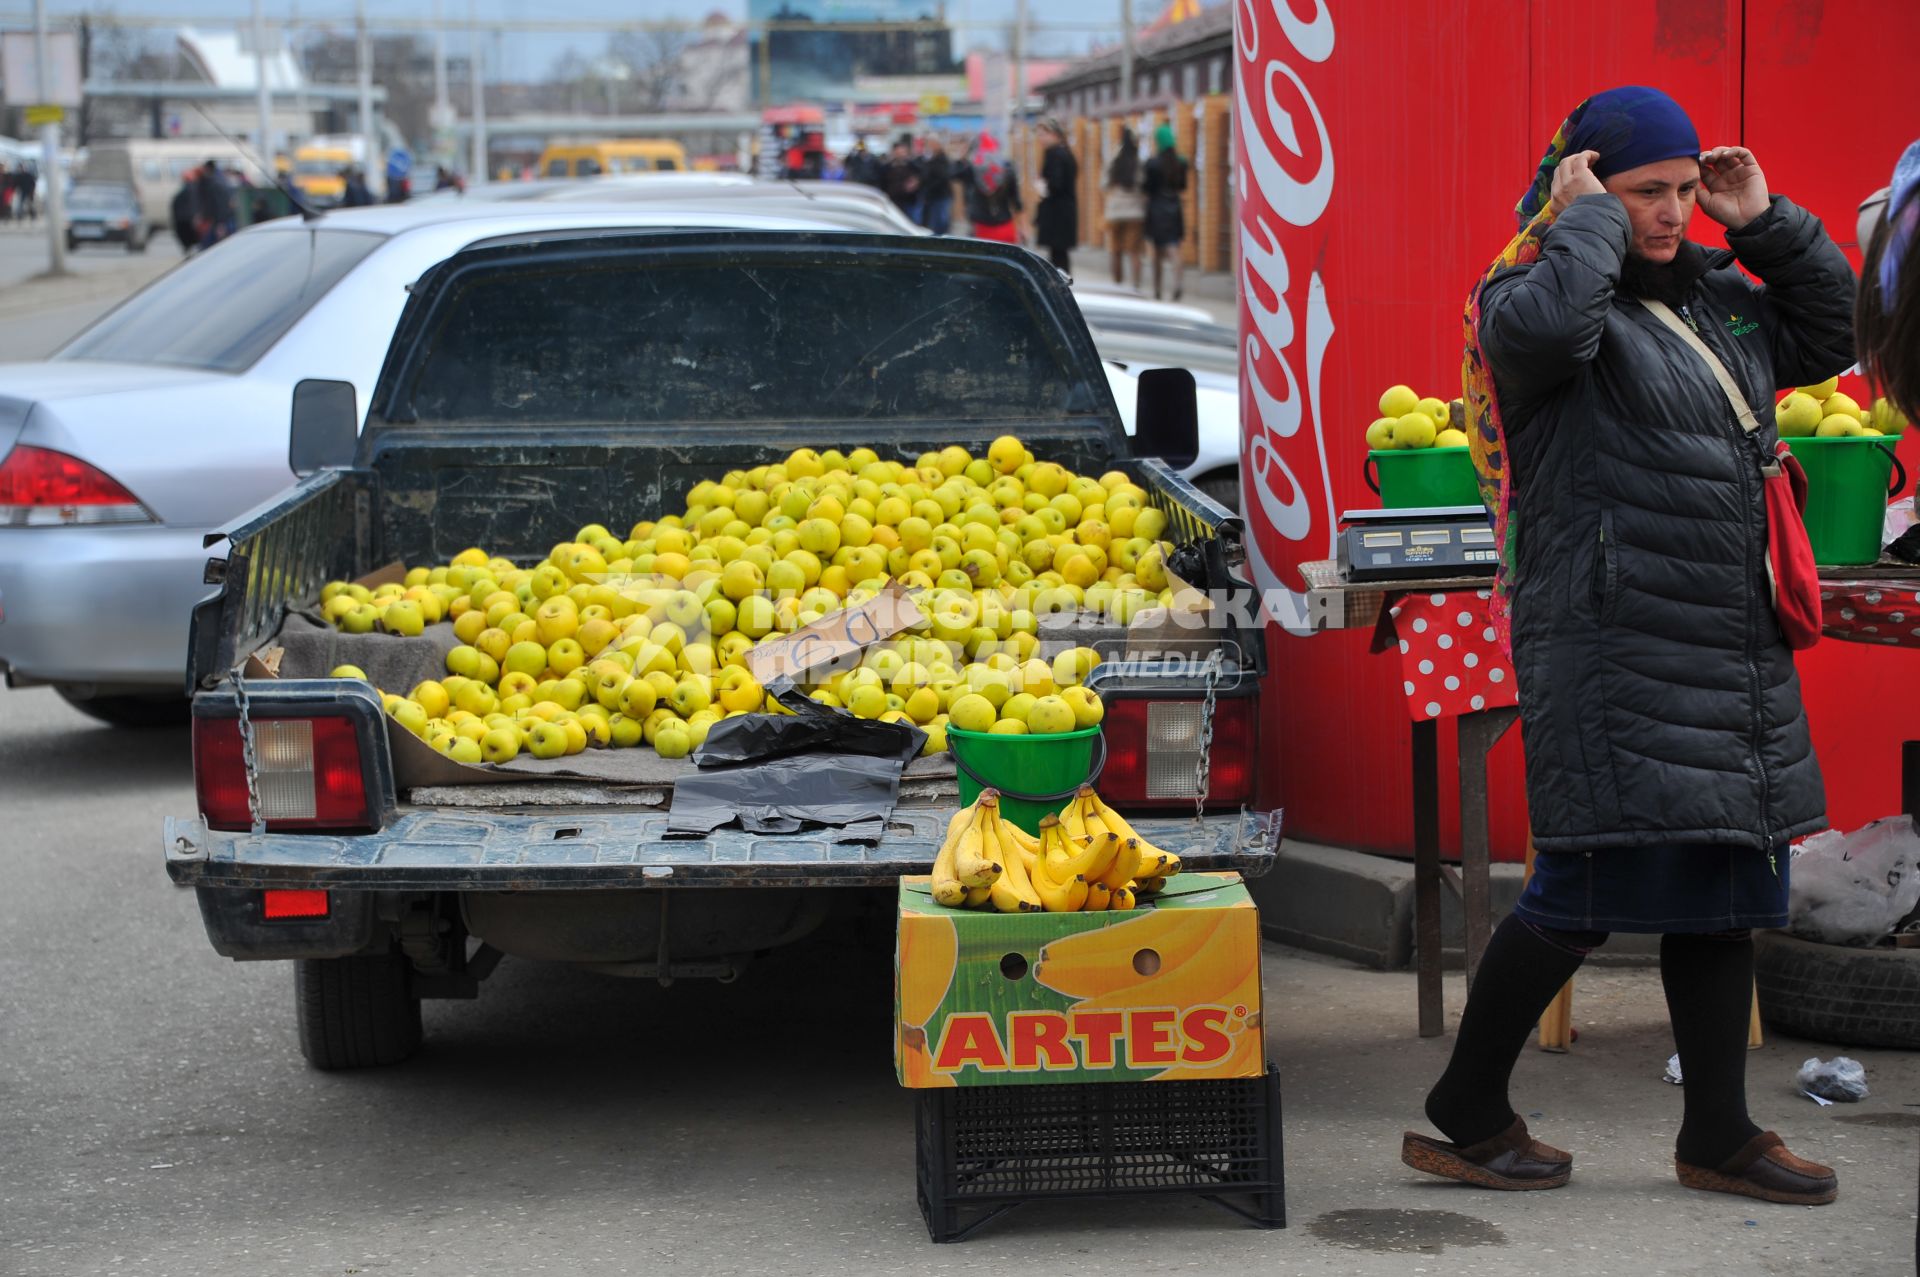
[[(1210, 807), (1238, 807), (1254, 797), (1258, 705), (1256, 697), (1213, 703)], [(1192, 807), (1204, 707), (1200, 697), (1108, 701), (1100, 795), (1116, 807)]]

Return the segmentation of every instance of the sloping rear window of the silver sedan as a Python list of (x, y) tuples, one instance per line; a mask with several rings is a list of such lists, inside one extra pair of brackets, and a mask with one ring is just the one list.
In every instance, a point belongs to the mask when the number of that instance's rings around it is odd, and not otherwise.
[(234, 236), (136, 292), (54, 357), (240, 373), (384, 238), (326, 229)]

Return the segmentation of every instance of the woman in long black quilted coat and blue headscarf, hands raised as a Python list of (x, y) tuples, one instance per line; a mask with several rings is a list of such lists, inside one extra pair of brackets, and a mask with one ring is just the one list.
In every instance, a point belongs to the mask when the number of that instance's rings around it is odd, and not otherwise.
[[(1695, 205), (1728, 250), (1686, 238)], [(1747, 1116), (1751, 928), (1788, 920), (1788, 843), (1826, 826), (1793, 655), (1768, 588), (1763, 465), (1778, 388), (1853, 363), (1853, 273), (1753, 154), (1701, 150), (1667, 94), (1580, 104), (1473, 294), (1475, 463), (1494, 490), (1540, 855), (1488, 943), (1409, 1166), (1557, 1189), (1572, 1158), (1507, 1100), (1540, 1012), (1609, 931), (1661, 935), (1680, 1052), (1682, 1185), (1837, 1194)], [(1741, 267), (1757, 277), (1753, 282)], [(1749, 432), (1703, 342), (1740, 398)]]

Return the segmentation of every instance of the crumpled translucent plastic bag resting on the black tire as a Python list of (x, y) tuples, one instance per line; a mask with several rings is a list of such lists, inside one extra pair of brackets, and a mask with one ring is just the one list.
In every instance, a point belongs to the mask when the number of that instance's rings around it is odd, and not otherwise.
[(1920, 837), (1912, 816), (1853, 833), (1826, 831), (1793, 853), (1788, 929), (1822, 945), (1874, 945), (1920, 904)]

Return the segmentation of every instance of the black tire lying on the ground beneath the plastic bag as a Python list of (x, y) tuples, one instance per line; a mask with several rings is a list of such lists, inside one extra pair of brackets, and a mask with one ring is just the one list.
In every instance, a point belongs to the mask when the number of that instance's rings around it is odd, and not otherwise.
[(1753, 985), (1761, 1018), (1795, 1037), (1920, 1047), (1920, 949), (1853, 949), (1755, 931)]

